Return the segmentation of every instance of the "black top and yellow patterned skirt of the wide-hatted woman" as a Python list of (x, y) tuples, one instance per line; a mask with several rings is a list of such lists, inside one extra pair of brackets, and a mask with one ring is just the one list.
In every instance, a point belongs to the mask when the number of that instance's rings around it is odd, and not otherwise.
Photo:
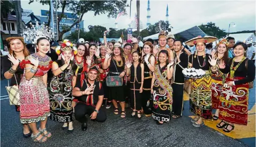
[(190, 111), (204, 119), (212, 119), (212, 77), (208, 62), (210, 55), (190, 55), (189, 62), (195, 69), (203, 69), (206, 74), (202, 78), (191, 80)]

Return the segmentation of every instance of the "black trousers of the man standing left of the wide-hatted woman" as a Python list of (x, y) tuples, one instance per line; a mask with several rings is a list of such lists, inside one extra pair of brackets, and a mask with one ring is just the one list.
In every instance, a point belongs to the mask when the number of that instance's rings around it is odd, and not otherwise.
[(175, 115), (182, 115), (184, 84), (172, 83), (172, 112)]

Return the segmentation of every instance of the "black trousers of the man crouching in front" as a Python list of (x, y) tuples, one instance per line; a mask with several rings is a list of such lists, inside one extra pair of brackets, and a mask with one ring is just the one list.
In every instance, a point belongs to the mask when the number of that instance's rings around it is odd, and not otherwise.
[[(74, 107), (74, 117), (81, 123), (87, 122), (86, 114), (91, 116), (94, 112), (95, 106), (86, 105), (85, 103), (77, 103)], [(106, 112), (101, 108), (97, 114), (96, 121), (104, 122), (107, 119)]]

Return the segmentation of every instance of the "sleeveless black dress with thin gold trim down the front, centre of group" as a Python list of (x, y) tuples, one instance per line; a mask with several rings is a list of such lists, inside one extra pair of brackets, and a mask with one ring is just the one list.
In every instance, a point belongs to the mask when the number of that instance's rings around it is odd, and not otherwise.
[(137, 67), (131, 66), (131, 80), (130, 80), (130, 89), (131, 89), (131, 109), (133, 111), (141, 111), (141, 67), (140, 63)]

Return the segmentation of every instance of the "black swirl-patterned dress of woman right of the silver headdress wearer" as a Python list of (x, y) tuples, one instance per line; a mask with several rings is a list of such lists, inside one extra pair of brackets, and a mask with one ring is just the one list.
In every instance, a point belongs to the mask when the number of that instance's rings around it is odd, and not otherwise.
[[(57, 60), (56, 63), (59, 67), (62, 66), (62, 60)], [(68, 67), (61, 74), (53, 76), (48, 84), (50, 95), (50, 120), (64, 123), (73, 121), (73, 76), (72, 68)]]

